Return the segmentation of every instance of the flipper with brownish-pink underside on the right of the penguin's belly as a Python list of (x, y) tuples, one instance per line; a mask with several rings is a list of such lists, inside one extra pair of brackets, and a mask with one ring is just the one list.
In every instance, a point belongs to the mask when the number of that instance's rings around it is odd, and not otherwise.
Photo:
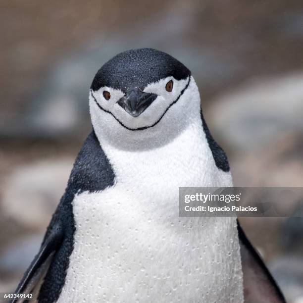
[(238, 222), (245, 303), (286, 303), (284, 296)]

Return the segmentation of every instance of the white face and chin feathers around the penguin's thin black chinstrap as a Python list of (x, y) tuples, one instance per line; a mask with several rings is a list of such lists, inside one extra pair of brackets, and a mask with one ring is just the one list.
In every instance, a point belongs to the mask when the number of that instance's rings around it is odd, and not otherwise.
[[(158, 95), (158, 98), (136, 118), (128, 114), (118, 104), (113, 105), (110, 113), (101, 110), (90, 94), (90, 113), (96, 134), (99, 134), (102, 140), (127, 150), (152, 149), (171, 141), (191, 121), (200, 119), (200, 96), (195, 80), (191, 77), (186, 80), (175, 80), (174, 88), (171, 92), (172, 95), (168, 95), (170, 96), (168, 98), (164, 92), (160, 91), (162, 91), (162, 86), (163, 90), (165, 90), (165, 84), (170, 79), (171, 77), (153, 83), (145, 89), (149, 92), (154, 90), (162, 95)], [(177, 102), (172, 104), (188, 82), (189, 86), (182, 96)], [(168, 92), (166, 93), (169, 94)], [(163, 115), (164, 112), (165, 114)], [(117, 118), (128, 128), (136, 129), (153, 125), (161, 116), (161, 120), (156, 125), (139, 131), (129, 130), (116, 120)]]

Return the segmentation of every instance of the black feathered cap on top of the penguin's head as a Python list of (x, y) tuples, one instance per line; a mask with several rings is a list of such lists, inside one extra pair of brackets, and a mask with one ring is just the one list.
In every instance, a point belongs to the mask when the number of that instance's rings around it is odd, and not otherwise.
[(91, 89), (111, 87), (126, 93), (131, 86), (144, 89), (149, 83), (172, 76), (186, 79), (190, 70), (171, 55), (154, 49), (127, 50), (107, 61), (97, 72)]

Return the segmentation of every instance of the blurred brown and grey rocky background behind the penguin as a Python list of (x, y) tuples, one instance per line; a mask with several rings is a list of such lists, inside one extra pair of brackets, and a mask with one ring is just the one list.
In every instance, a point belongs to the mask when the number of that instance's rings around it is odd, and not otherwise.
[[(91, 129), (99, 67), (133, 48), (191, 68), (236, 186), (303, 186), (301, 0), (0, 3), (0, 292), (33, 255)], [(241, 218), (289, 303), (303, 302), (303, 218)]]

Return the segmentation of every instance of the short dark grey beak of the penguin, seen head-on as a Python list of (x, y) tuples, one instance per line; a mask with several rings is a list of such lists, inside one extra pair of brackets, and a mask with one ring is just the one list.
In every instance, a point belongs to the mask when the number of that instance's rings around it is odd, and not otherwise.
[(157, 95), (144, 93), (139, 87), (130, 87), (126, 95), (120, 98), (117, 103), (131, 116), (141, 115), (157, 98)]

